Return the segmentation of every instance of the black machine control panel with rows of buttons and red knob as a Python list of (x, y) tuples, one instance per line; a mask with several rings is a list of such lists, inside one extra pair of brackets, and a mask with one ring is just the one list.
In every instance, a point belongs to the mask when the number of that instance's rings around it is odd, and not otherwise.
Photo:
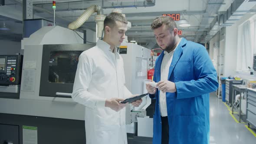
[(0, 55), (0, 85), (20, 84), (22, 55)]

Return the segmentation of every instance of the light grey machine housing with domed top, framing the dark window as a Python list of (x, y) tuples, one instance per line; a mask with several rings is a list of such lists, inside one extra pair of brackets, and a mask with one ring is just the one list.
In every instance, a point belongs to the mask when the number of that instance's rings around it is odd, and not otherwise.
[[(81, 34), (80, 36), (83, 37)], [(40, 97), (39, 85), (44, 44), (82, 44), (73, 30), (46, 26), (23, 41), (24, 58), (20, 99), (0, 98), (0, 113), (84, 120), (84, 106), (71, 98)], [(28, 73), (29, 72), (29, 73)], [(24, 79), (24, 75), (26, 79)], [(30, 82), (31, 92), (23, 91)], [(32, 83), (31, 83), (32, 82)], [(74, 112), (75, 111), (75, 112)]]

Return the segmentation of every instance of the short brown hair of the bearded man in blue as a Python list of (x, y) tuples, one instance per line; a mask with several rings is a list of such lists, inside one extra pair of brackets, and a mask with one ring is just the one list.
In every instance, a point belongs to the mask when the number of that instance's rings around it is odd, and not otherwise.
[(154, 19), (153, 23), (151, 24), (151, 29), (157, 29), (158, 27), (161, 27), (163, 24), (168, 26), (170, 30), (177, 28), (177, 25), (173, 18), (171, 18), (170, 16), (160, 16)]

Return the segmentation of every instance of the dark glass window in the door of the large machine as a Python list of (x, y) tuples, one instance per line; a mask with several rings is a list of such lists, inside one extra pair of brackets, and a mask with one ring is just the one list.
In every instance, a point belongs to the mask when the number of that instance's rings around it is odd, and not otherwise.
[(49, 82), (74, 83), (78, 59), (83, 51), (52, 51), (49, 57)]

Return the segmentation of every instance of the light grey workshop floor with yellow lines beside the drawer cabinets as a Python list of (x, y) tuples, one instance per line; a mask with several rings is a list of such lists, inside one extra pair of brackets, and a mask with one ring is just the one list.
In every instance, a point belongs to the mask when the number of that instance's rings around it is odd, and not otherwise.
[(210, 94), (210, 144), (256, 144), (256, 131), (254, 136), (246, 123), (237, 123), (230, 110), (215, 93)]

